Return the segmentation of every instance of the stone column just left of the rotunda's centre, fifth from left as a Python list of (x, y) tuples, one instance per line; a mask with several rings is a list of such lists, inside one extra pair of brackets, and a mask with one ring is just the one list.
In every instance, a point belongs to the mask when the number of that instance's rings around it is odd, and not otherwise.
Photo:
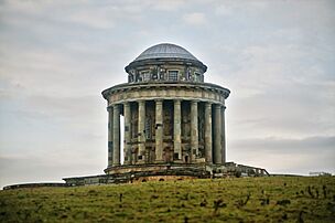
[(163, 100), (155, 100), (155, 160), (163, 161)]

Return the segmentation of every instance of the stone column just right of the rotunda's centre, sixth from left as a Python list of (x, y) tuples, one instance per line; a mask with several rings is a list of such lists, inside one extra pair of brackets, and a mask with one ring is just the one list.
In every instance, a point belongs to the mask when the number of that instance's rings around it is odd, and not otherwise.
[[(173, 159), (182, 160), (182, 139), (181, 139), (181, 100), (175, 99), (174, 100), (174, 113), (173, 113)], [(175, 157), (175, 153), (177, 153), (177, 158)]]

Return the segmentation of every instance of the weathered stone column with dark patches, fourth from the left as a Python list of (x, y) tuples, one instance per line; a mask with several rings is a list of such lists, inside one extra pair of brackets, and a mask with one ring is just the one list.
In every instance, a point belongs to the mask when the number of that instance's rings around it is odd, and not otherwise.
[(145, 161), (145, 100), (139, 102), (139, 155), (138, 162), (143, 163)]

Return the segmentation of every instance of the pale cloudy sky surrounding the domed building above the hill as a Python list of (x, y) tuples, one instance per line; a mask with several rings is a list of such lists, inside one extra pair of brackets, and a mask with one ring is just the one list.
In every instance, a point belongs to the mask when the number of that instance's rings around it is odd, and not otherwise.
[(101, 174), (101, 91), (158, 43), (208, 66), (227, 161), (335, 173), (335, 2), (0, 0), (0, 187)]

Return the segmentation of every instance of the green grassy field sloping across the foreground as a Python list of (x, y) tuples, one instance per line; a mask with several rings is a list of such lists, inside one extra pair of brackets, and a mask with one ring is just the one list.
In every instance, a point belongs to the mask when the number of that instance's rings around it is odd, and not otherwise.
[(335, 222), (334, 177), (0, 191), (0, 222)]

